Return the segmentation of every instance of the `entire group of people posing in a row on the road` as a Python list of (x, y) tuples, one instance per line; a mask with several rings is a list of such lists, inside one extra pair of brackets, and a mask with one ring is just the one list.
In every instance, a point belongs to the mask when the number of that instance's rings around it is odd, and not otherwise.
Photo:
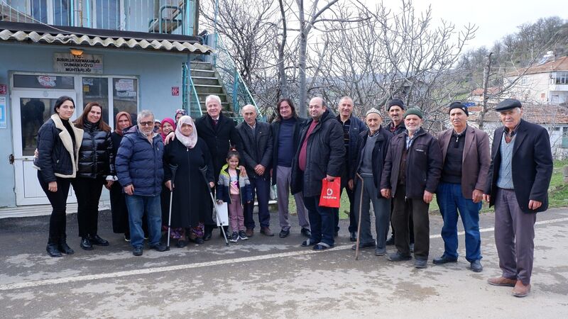
[[(75, 104), (67, 96), (55, 103), (54, 114), (38, 133), (38, 179), (53, 206), (47, 251), (52, 257), (72, 254), (65, 233), (65, 202), (72, 183), (77, 194), (81, 247), (109, 245), (97, 235), (102, 186), (111, 194), (113, 230), (124, 233), (133, 254), (143, 242), (166, 250), (162, 233), (177, 240), (210, 240), (217, 228), (213, 205), (227, 203), (229, 227), (222, 235), (237, 242), (254, 235), (253, 208), (258, 202), (260, 233), (273, 236), (268, 200), (271, 185), (278, 191), (279, 237), (290, 235), (288, 198), (293, 194), (303, 247), (327, 250), (339, 231), (339, 209), (320, 206), (322, 181), (341, 179), (349, 197), (349, 237), (378, 256), (395, 245), (388, 260), (412, 259), (427, 267), (430, 252), (428, 208), (436, 194), (444, 225), (444, 254), (434, 264), (457, 262), (458, 216), (466, 233), (466, 260), (481, 272), (479, 211), (488, 201), (496, 211), (496, 246), (502, 276), (489, 284), (513, 286), (513, 295), (530, 291), (536, 214), (547, 209), (552, 154), (547, 130), (522, 119), (519, 101), (498, 103), (503, 127), (495, 130), (490, 149), (486, 133), (467, 124), (464, 104), (449, 105), (452, 128), (437, 137), (422, 125), (418, 108), (400, 99), (387, 103), (390, 123), (376, 108), (364, 121), (353, 114), (344, 96), (334, 116), (320, 97), (309, 103), (309, 118), (297, 116), (293, 101), (278, 101), (270, 124), (257, 121), (255, 106), (244, 106), (243, 123), (235, 125), (221, 112), (218, 96), (207, 96), (207, 114), (193, 121), (178, 110), (155, 132), (151, 111), (116, 115), (116, 129), (101, 119), (98, 103), (85, 106), (69, 121)], [(491, 150), (491, 152), (490, 152)], [(209, 201), (209, 192), (215, 201)], [(371, 233), (371, 205), (375, 233)], [(459, 212), (459, 213), (458, 213)], [(361, 216), (361, 220), (359, 220)], [(357, 225), (360, 223), (360, 233)], [(389, 226), (392, 237), (387, 239)], [(168, 238), (168, 242), (170, 240)]]

